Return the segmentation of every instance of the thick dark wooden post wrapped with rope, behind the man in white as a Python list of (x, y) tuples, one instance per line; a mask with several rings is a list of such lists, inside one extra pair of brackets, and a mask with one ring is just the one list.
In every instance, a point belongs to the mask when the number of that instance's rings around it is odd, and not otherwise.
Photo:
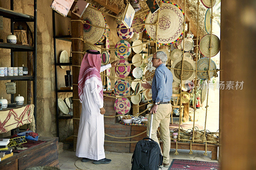
[[(71, 11), (75, 7), (75, 3), (71, 7)], [(80, 19), (78, 16), (73, 14), (71, 12), (71, 19)], [(81, 35), (83, 35), (83, 24), (82, 22), (71, 22), (71, 37), (72, 38), (79, 38)], [(84, 42), (81, 41), (80, 39), (72, 39), (72, 51), (84, 51)], [(72, 64), (73, 65), (78, 65), (81, 66), (81, 62), (83, 60), (84, 54), (82, 53), (72, 53)], [(78, 84), (78, 77), (79, 77), (79, 71), (80, 67), (73, 67), (73, 84)], [(73, 85), (73, 98), (74, 99), (79, 99), (78, 97), (78, 86)], [(74, 118), (80, 118), (81, 115), (81, 103), (79, 100), (74, 100), (73, 101), (73, 114)], [(79, 127), (79, 120), (73, 119), (73, 127), (74, 127), (74, 135), (78, 135), (78, 127)], [(74, 137), (74, 151), (76, 151), (76, 141), (77, 137)]]

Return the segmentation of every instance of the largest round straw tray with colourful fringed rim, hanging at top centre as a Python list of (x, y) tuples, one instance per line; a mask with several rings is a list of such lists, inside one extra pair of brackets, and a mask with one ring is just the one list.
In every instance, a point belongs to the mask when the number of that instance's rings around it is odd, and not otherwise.
[(145, 25), (148, 36), (156, 40), (159, 44), (172, 44), (180, 39), (183, 34), (184, 26), (184, 12), (181, 8), (173, 3), (162, 3), (160, 9), (152, 14), (150, 11), (145, 19), (145, 23), (155, 24), (157, 22), (157, 15), (159, 12), (159, 25)]

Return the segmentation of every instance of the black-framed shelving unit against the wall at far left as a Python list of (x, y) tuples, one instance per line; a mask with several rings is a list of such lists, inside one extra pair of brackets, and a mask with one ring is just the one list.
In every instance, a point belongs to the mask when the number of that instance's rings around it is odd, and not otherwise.
[[(14, 55), (13, 52), (20, 51), (31, 51), (33, 53), (33, 75), (23, 76), (4, 76), (0, 77), (0, 81), (11, 80), (11, 81), (33, 81), (33, 103), (34, 117), (36, 123), (36, 56), (37, 56), (37, 0), (34, 0), (34, 16), (23, 14), (20, 12), (13, 11), (14, 2), (10, 0), (11, 10), (0, 7), (0, 16), (11, 19), (11, 32), (13, 34), (14, 22), (33, 22), (34, 23), (34, 46), (11, 44), (11, 43), (0, 43), (0, 48), (11, 49), (11, 67), (14, 67)], [(14, 94), (11, 94), (11, 103), (14, 102)], [(19, 108), (19, 107), (16, 107)], [(4, 110), (10, 110), (13, 108), (7, 108)], [(2, 110), (2, 111), (4, 111)]]

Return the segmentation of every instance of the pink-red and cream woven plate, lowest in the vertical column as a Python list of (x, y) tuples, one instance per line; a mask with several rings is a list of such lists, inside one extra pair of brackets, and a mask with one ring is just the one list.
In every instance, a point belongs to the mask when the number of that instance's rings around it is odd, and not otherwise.
[(118, 98), (114, 103), (114, 109), (116, 113), (120, 115), (127, 114), (131, 109), (131, 103), (127, 98)]

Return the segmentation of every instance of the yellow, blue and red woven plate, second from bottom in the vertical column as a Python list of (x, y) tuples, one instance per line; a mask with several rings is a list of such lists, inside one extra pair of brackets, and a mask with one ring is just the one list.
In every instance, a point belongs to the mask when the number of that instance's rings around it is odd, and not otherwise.
[(118, 96), (125, 96), (130, 91), (130, 83), (126, 80), (118, 79), (114, 86), (115, 94)]

